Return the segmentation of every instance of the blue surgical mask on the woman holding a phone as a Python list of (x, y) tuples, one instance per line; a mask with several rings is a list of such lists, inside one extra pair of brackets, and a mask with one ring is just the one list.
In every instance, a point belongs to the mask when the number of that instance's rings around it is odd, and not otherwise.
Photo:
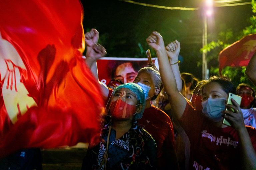
[(222, 120), (221, 112), (225, 110), (226, 99), (207, 99), (202, 102), (202, 113), (211, 119), (213, 122), (220, 122)]

